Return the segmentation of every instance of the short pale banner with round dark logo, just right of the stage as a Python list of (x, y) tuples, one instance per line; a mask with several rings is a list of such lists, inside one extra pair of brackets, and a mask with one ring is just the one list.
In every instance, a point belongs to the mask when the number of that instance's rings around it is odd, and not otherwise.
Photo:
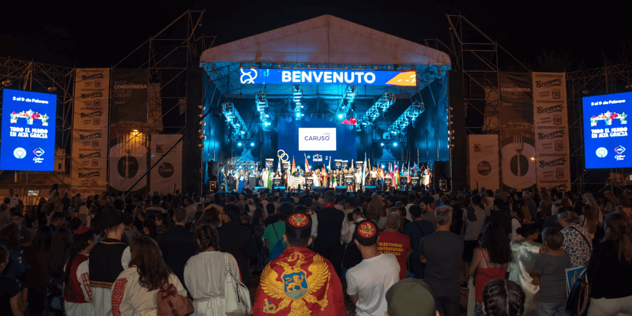
[(498, 135), (469, 135), (470, 188), (500, 187)]

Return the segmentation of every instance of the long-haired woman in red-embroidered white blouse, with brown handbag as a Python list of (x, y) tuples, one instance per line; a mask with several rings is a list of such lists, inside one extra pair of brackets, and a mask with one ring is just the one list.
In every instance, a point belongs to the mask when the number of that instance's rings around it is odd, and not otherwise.
[(186, 289), (164, 263), (160, 248), (149, 236), (133, 238), (130, 254), (130, 267), (112, 285), (112, 315), (156, 315), (161, 289), (172, 288), (178, 295), (186, 296)]

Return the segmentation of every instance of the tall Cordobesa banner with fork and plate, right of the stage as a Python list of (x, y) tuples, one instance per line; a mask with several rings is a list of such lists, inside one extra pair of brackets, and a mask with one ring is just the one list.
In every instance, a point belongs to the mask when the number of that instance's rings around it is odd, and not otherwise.
[(502, 190), (536, 186), (531, 73), (498, 73)]

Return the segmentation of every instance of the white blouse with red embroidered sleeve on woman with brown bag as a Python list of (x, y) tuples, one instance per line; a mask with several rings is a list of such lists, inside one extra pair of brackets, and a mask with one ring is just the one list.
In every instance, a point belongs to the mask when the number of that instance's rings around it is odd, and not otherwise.
[[(112, 315), (114, 316), (157, 316), (157, 295), (160, 289), (148, 291), (138, 282), (140, 274), (130, 267), (119, 274), (112, 285)], [(175, 274), (169, 274), (169, 283), (176, 286), (179, 295), (186, 296), (186, 289)]]

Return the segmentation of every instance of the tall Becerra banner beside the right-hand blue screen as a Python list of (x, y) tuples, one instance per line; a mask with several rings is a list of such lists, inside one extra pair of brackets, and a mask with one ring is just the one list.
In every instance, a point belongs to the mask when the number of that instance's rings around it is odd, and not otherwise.
[(533, 73), (533, 123), (538, 188), (571, 188), (566, 75)]

